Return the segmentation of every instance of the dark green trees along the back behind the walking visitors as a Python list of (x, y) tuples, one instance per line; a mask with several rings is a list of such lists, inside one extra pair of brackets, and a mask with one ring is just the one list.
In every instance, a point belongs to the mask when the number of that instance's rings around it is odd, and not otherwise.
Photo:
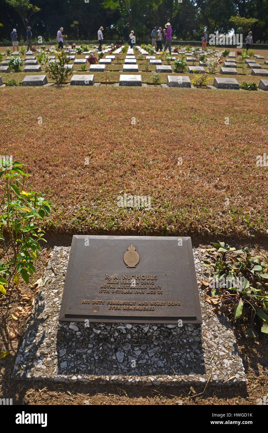
[[(180, 1), (180, 0), (179, 0)], [(0, 0), (0, 39), (18, 36), (32, 27), (33, 37), (55, 39), (59, 27), (68, 39), (94, 40), (103, 26), (104, 39), (126, 40), (130, 30), (137, 39), (149, 38), (154, 26), (171, 22), (173, 36), (200, 40), (208, 33), (251, 30), (254, 41), (268, 39), (268, 0)], [(73, 23), (77, 24), (74, 26)]]

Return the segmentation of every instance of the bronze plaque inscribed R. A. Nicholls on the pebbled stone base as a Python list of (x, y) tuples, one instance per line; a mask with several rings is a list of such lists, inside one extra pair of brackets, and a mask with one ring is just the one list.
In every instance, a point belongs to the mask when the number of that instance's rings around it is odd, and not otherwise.
[(202, 323), (190, 237), (73, 236), (59, 320)]

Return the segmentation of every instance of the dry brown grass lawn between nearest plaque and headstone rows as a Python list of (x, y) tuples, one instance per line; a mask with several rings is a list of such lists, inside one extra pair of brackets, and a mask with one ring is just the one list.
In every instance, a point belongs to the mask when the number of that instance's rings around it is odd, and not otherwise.
[[(52, 201), (46, 233), (267, 239), (265, 92), (6, 87), (1, 101), (1, 154)], [(151, 210), (118, 207), (124, 194)]]

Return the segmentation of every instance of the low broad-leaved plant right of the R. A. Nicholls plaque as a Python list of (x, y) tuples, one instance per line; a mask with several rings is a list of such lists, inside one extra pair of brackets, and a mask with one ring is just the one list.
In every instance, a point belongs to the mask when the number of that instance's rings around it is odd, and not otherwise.
[[(268, 333), (268, 255), (236, 250), (224, 242), (212, 242), (205, 260), (212, 269), (211, 296), (205, 295), (215, 311), (229, 311), (234, 319), (243, 319), (249, 326), (246, 334), (257, 336), (261, 321), (262, 333)], [(217, 284), (216, 284), (217, 283)]]

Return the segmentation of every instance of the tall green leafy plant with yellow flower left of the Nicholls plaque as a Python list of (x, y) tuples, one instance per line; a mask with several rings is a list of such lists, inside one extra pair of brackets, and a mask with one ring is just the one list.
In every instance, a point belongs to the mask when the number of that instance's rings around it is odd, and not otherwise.
[(0, 201), (0, 292), (4, 295), (19, 286), (20, 276), (28, 284), (36, 272), (39, 242), (46, 242), (39, 221), (51, 211), (51, 203), (39, 193), (24, 191), (30, 176), (24, 171), (25, 165), (7, 159), (0, 171), (4, 183)]

